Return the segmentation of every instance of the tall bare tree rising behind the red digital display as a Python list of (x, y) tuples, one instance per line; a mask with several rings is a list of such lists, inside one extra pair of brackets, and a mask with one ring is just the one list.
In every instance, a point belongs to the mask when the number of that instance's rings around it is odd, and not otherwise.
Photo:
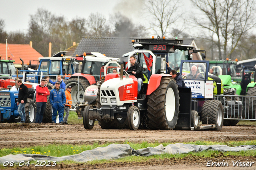
[[(170, 33), (172, 26), (176, 21), (181, 19), (182, 13), (178, 11), (180, 0), (148, 0), (146, 2), (146, 9), (150, 16), (150, 29), (154, 30), (156, 34), (165, 36)], [(177, 32), (177, 30), (175, 31)]]

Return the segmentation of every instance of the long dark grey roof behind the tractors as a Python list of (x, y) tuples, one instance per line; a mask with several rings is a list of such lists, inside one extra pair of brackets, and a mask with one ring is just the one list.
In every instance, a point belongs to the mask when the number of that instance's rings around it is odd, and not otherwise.
[(107, 57), (120, 58), (124, 53), (134, 50), (132, 38), (111, 38), (111, 37), (83, 37), (76, 47), (72, 57), (76, 54), (82, 55), (84, 52), (100, 52)]

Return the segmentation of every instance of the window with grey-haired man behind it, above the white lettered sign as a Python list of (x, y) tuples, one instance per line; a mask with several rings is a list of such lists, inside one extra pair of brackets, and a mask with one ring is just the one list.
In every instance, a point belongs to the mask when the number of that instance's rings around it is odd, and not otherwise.
[(184, 62), (182, 76), (184, 79), (204, 79), (206, 77), (206, 63)]

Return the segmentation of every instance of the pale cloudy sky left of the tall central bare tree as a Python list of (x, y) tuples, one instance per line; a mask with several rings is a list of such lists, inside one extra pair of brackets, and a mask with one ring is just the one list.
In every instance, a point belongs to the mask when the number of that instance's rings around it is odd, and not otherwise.
[(68, 21), (76, 18), (88, 18), (90, 13), (99, 12), (107, 19), (110, 14), (120, 12), (132, 18), (134, 22), (143, 20), (138, 14), (144, 0), (0, 0), (0, 18), (4, 20), (4, 30), (26, 32), (30, 15), (38, 8), (44, 8)]

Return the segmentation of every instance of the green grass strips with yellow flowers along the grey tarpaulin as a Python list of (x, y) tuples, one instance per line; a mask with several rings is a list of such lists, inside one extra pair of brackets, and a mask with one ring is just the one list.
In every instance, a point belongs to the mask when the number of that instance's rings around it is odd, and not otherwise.
[[(129, 144), (132, 148), (135, 150), (147, 148), (147, 147), (155, 147), (158, 146), (160, 143), (154, 142), (154, 143), (148, 143), (148, 142), (142, 142), (140, 144), (136, 143), (130, 143), (128, 141), (124, 142), (123, 144)], [(97, 147), (106, 147), (111, 143), (106, 144), (98, 144), (97, 142), (92, 145), (56, 145), (56, 144), (50, 144), (48, 146), (32, 146), (28, 148), (3, 148), (0, 150), (0, 157), (8, 155), (8, 154), (42, 154), (47, 156), (66, 156), (66, 155), (74, 155), (81, 153), (85, 150), (91, 150)], [(117, 143), (116, 143), (117, 144)], [(163, 146), (167, 146), (171, 143), (162, 143)], [(195, 145), (213, 145), (213, 144), (225, 144), (227, 146), (239, 146), (239, 145), (248, 145), (248, 144), (256, 144), (256, 140), (251, 141), (232, 141), (232, 142), (208, 142), (208, 141), (196, 141), (196, 142), (187, 142), (186, 144), (195, 144)], [(164, 158), (184, 158), (186, 156), (200, 156), (200, 157), (213, 157), (216, 155), (219, 155), (220, 153), (223, 154), (223, 156), (255, 156), (256, 150), (248, 150), (248, 151), (240, 151), (240, 152), (219, 152), (216, 150), (206, 150), (202, 152), (190, 152), (188, 154), (161, 154), (161, 155), (153, 155), (153, 156), (128, 156), (125, 158), (120, 158), (118, 160), (115, 160), (115, 162), (141, 162), (150, 160), (152, 158), (155, 159), (164, 159)], [(34, 161), (36, 162), (36, 161)], [(64, 164), (72, 164), (77, 163), (74, 161), (62, 161)], [(104, 164), (113, 162), (113, 160), (93, 160), (90, 162), (87, 162), (87, 164)], [(32, 162), (31, 162), (32, 163)], [(60, 163), (60, 162), (58, 162)]]

